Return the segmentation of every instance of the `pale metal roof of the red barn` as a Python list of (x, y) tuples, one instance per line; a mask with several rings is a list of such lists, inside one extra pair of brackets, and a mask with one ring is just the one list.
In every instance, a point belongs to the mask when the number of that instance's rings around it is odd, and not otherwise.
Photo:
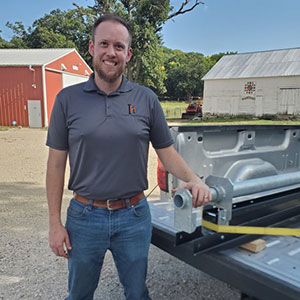
[(62, 49), (0, 49), (0, 66), (43, 66), (72, 51)]

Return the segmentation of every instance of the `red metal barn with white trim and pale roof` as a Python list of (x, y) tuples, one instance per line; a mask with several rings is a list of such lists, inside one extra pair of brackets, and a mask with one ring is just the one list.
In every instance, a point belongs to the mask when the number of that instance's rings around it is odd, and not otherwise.
[(48, 126), (57, 93), (91, 73), (75, 49), (0, 49), (0, 125)]

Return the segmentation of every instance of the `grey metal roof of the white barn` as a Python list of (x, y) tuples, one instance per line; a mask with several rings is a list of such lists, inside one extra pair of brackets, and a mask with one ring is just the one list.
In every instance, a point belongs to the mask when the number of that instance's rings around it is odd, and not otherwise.
[(300, 75), (300, 48), (224, 55), (202, 79), (295, 75)]

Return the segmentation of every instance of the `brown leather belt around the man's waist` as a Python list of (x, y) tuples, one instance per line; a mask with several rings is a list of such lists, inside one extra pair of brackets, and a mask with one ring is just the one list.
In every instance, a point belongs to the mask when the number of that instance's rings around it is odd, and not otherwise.
[[(129, 199), (129, 205), (134, 206), (136, 205), (141, 199), (145, 197), (144, 192), (141, 192)], [(74, 199), (77, 200), (78, 202), (84, 203), (84, 204), (89, 204), (89, 199), (79, 196), (78, 194), (74, 193)], [(93, 200), (93, 206), (97, 207), (103, 207), (107, 208), (109, 210), (115, 210), (115, 209), (120, 209), (120, 208), (126, 208), (127, 199), (108, 199), (108, 200)]]

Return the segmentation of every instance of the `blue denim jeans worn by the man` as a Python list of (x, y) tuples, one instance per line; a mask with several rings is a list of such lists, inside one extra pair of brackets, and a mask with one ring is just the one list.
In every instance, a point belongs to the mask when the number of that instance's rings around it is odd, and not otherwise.
[[(127, 300), (149, 300), (146, 287), (151, 215), (147, 199), (134, 207), (108, 210), (72, 199), (66, 228), (69, 251), (68, 300), (92, 300), (106, 251), (112, 252)], [(66, 299), (66, 300), (67, 300)]]

